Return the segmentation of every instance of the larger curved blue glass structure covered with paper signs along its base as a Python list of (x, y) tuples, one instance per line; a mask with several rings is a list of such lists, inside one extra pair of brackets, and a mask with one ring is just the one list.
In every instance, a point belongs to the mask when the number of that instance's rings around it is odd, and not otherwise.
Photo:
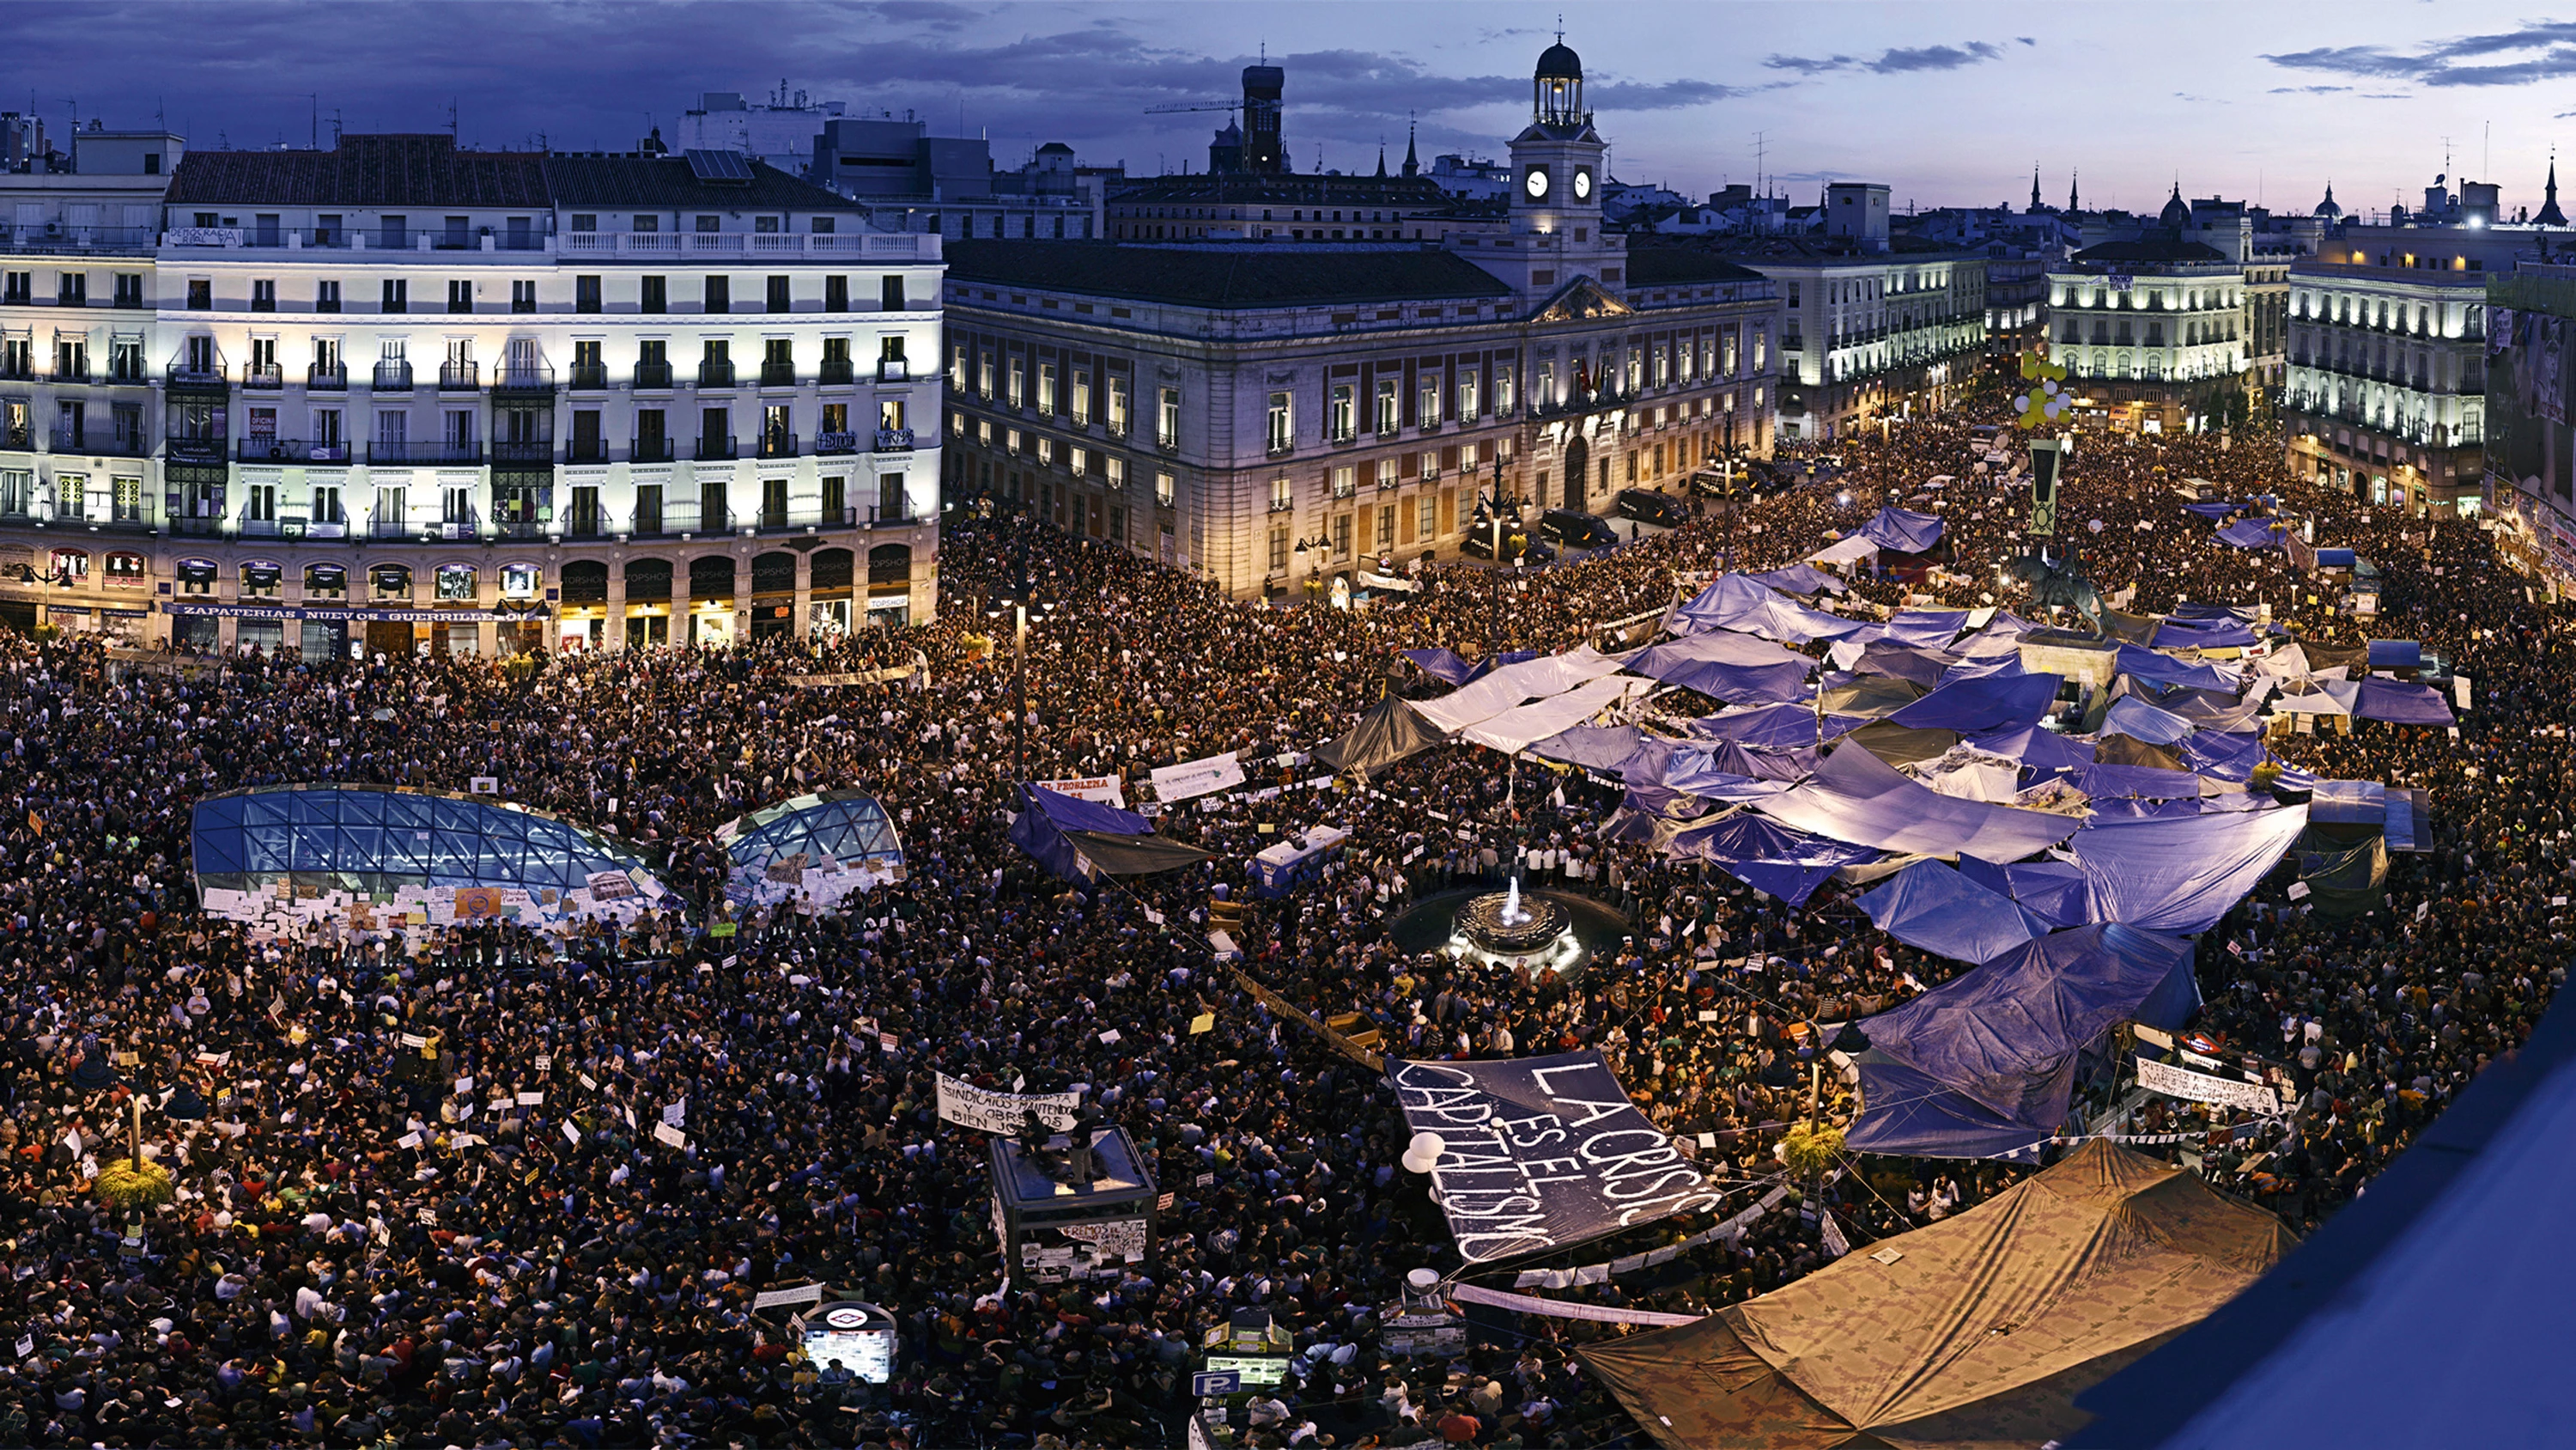
[(662, 896), (605, 832), (477, 796), (389, 786), (283, 786), (196, 804), (191, 850), (206, 912), (273, 922), (528, 925), (626, 914)]

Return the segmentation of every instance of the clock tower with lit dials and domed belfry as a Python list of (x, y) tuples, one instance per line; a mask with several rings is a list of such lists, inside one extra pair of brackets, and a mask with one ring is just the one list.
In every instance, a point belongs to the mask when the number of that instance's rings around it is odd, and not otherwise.
[[(1520, 291), (1548, 296), (1577, 278), (1592, 278), (1620, 291), (1625, 237), (1602, 234), (1602, 185), (1610, 180), (1602, 157), (1607, 142), (1592, 129), (1584, 106), (1584, 62), (1564, 44), (1538, 57), (1530, 77), (1530, 124), (1512, 137), (1512, 229), (1507, 250), (1522, 265), (1504, 281)], [(1504, 273), (1494, 258), (1479, 258)]]

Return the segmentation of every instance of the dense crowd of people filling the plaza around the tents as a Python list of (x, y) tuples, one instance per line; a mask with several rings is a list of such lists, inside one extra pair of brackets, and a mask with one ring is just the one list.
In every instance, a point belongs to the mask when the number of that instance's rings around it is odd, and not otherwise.
[[(1790, 912), (1705, 863), (1610, 845), (1618, 791), (1468, 744), (1368, 791), (1265, 765), (1255, 786), (1285, 791), (1162, 816), (1213, 852), (1206, 865), (1100, 886), (1051, 878), (1007, 842), (1012, 783), (1126, 775), (1141, 791), (1154, 765), (1296, 757), (1388, 688), (1440, 690), (1399, 649), (1566, 649), (1672, 603), (1685, 574), (1790, 564), (1883, 502), (1940, 500), (1965, 582), (1862, 579), (1855, 595), (2009, 605), (1991, 598), (1994, 564), (2025, 551), (2022, 513), (1976, 474), (1984, 451), (1965, 422), (1906, 422), (1741, 515), (1525, 574), (1440, 567), (1422, 592), (1360, 610), (1226, 603), (1010, 507), (963, 507), (940, 623), (855, 639), (538, 672), (111, 662), (95, 639), (0, 639), (0, 1339), (21, 1344), (0, 1355), (0, 1445), (1162, 1445), (1195, 1404), (1203, 1332), (1247, 1306), (1298, 1350), (1291, 1380), (1252, 1404), (1252, 1445), (1643, 1445), (1571, 1357), (1615, 1329), (1497, 1311), (1463, 1360), (1383, 1352), (1404, 1272), (1458, 1257), (1396, 1162), (1388, 1089), (1236, 971), (1319, 1017), (1355, 1012), (1388, 1056), (1600, 1048), (1739, 1187), (1731, 1213), (1777, 1180), (1777, 1131), (1811, 1110), (1790, 1030), (1958, 966), (1875, 932), (1837, 889)], [(1958, 482), (1924, 494), (1937, 474)], [(2215, 543), (2177, 507), (2182, 479), (2287, 494), (2318, 541), (2383, 569), (2378, 621), (2331, 613), (2282, 551)], [(2432, 793), (2432, 850), (2398, 858), (2383, 909), (2300, 912), (2275, 876), (2200, 945), (2197, 1025), (2293, 1064), (2303, 1113), (2287, 1136), (2215, 1123), (2192, 1149), (2218, 1187), (2313, 1226), (2512, 1051), (2563, 979), (2576, 639), (2473, 523), (2293, 484), (2262, 435), (2087, 440), (2061, 523), (2105, 590), (2136, 587), (2136, 610), (2269, 605), (2308, 639), (2421, 639), (2476, 680), (2458, 739), (2362, 724), (2277, 742), (2318, 775)], [(987, 608), (1005, 598), (1043, 605), (1025, 719), (1007, 621)], [(925, 680), (788, 685), (914, 654)], [(196, 912), (188, 811), (206, 793), (464, 791), (477, 775), (667, 852), (680, 904), (626, 927), (412, 943), (252, 943)], [(845, 912), (724, 909), (708, 832), (819, 786), (886, 804), (907, 881)], [(1332, 873), (1234, 912), (1247, 858), (1319, 822), (1352, 832)], [(1533, 883), (1625, 912), (1628, 943), (1546, 984), (1396, 948), (1409, 901), (1494, 881), (1525, 852)], [(1221, 899), (1239, 914), (1236, 963), (1206, 940)], [(1193, 1033), (1203, 1012), (1213, 1030)], [(443, 1046), (433, 1069), (407, 1035)], [(1079, 1084), (1175, 1198), (1151, 1265), (1005, 1283), (987, 1138), (938, 1120), (935, 1071)], [(459, 1097), (459, 1077), (479, 1087)], [(487, 1087), (513, 1107), (464, 1118)], [(520, 1092), (544, 1097), (515, 1105)], [(90, 1180), (126, 1151), (137, 1095), (180, 1200), (129, 1244)], [(649, 1136), (675, 1102), (685, 1151)], [(1834, 1074), (1821, 1110), (1850, 1115)], [(2141, 1131), (2169, 1125), (2184, 1115), (2151, 1110)], [(456, 1146), (461, 1133), (479, 1141)], [(1821, 1190), (1855, 1244), (2022, 1172), (1860, 1169)], [(1698, 1311), (1821, 1262), (1819, 1221), (1783, 1205), (1739, 1241), (1566, 1295)], [(817, 1280), (896, 1316), (894, 1386), (806, 1362), (783, 1313), (752, 1308), (762, 1288)]]

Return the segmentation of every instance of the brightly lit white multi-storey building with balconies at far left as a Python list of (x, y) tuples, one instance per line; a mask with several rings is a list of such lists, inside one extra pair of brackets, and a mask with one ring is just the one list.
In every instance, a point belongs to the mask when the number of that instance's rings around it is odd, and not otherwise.
[(935, 608), (940, 237), (765, 165), (188, 152), (149, 247), (8, 265), (49, 309), (13, 337), (88, 327), (106, 379), (59, 348), (0, 379), (54, 410), (0, 438), (10, 613), (520, 652)]

